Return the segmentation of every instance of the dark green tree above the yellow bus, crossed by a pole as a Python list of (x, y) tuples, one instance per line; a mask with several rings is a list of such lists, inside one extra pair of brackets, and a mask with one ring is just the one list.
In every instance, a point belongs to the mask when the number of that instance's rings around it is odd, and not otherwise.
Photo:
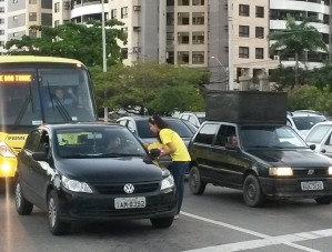
[[(122, 61), (121, 48), (118, 40), (127, 43), (125, 34), (119, 29), (123, 26), (118, 20), (105, 22), (108, 65)], [(30, 30), (40, 31), (41, 38), (23, 36), (21, 40), (10, 40), (6, 49), (13, 46), (8, 54), (52, 56), (77, 59), (87, 65), (102, 65), (102, 29), (100, 21), (89, 21), (88, 26), (66, 22), (57, 28), (48, 26), (31, 26)]]

